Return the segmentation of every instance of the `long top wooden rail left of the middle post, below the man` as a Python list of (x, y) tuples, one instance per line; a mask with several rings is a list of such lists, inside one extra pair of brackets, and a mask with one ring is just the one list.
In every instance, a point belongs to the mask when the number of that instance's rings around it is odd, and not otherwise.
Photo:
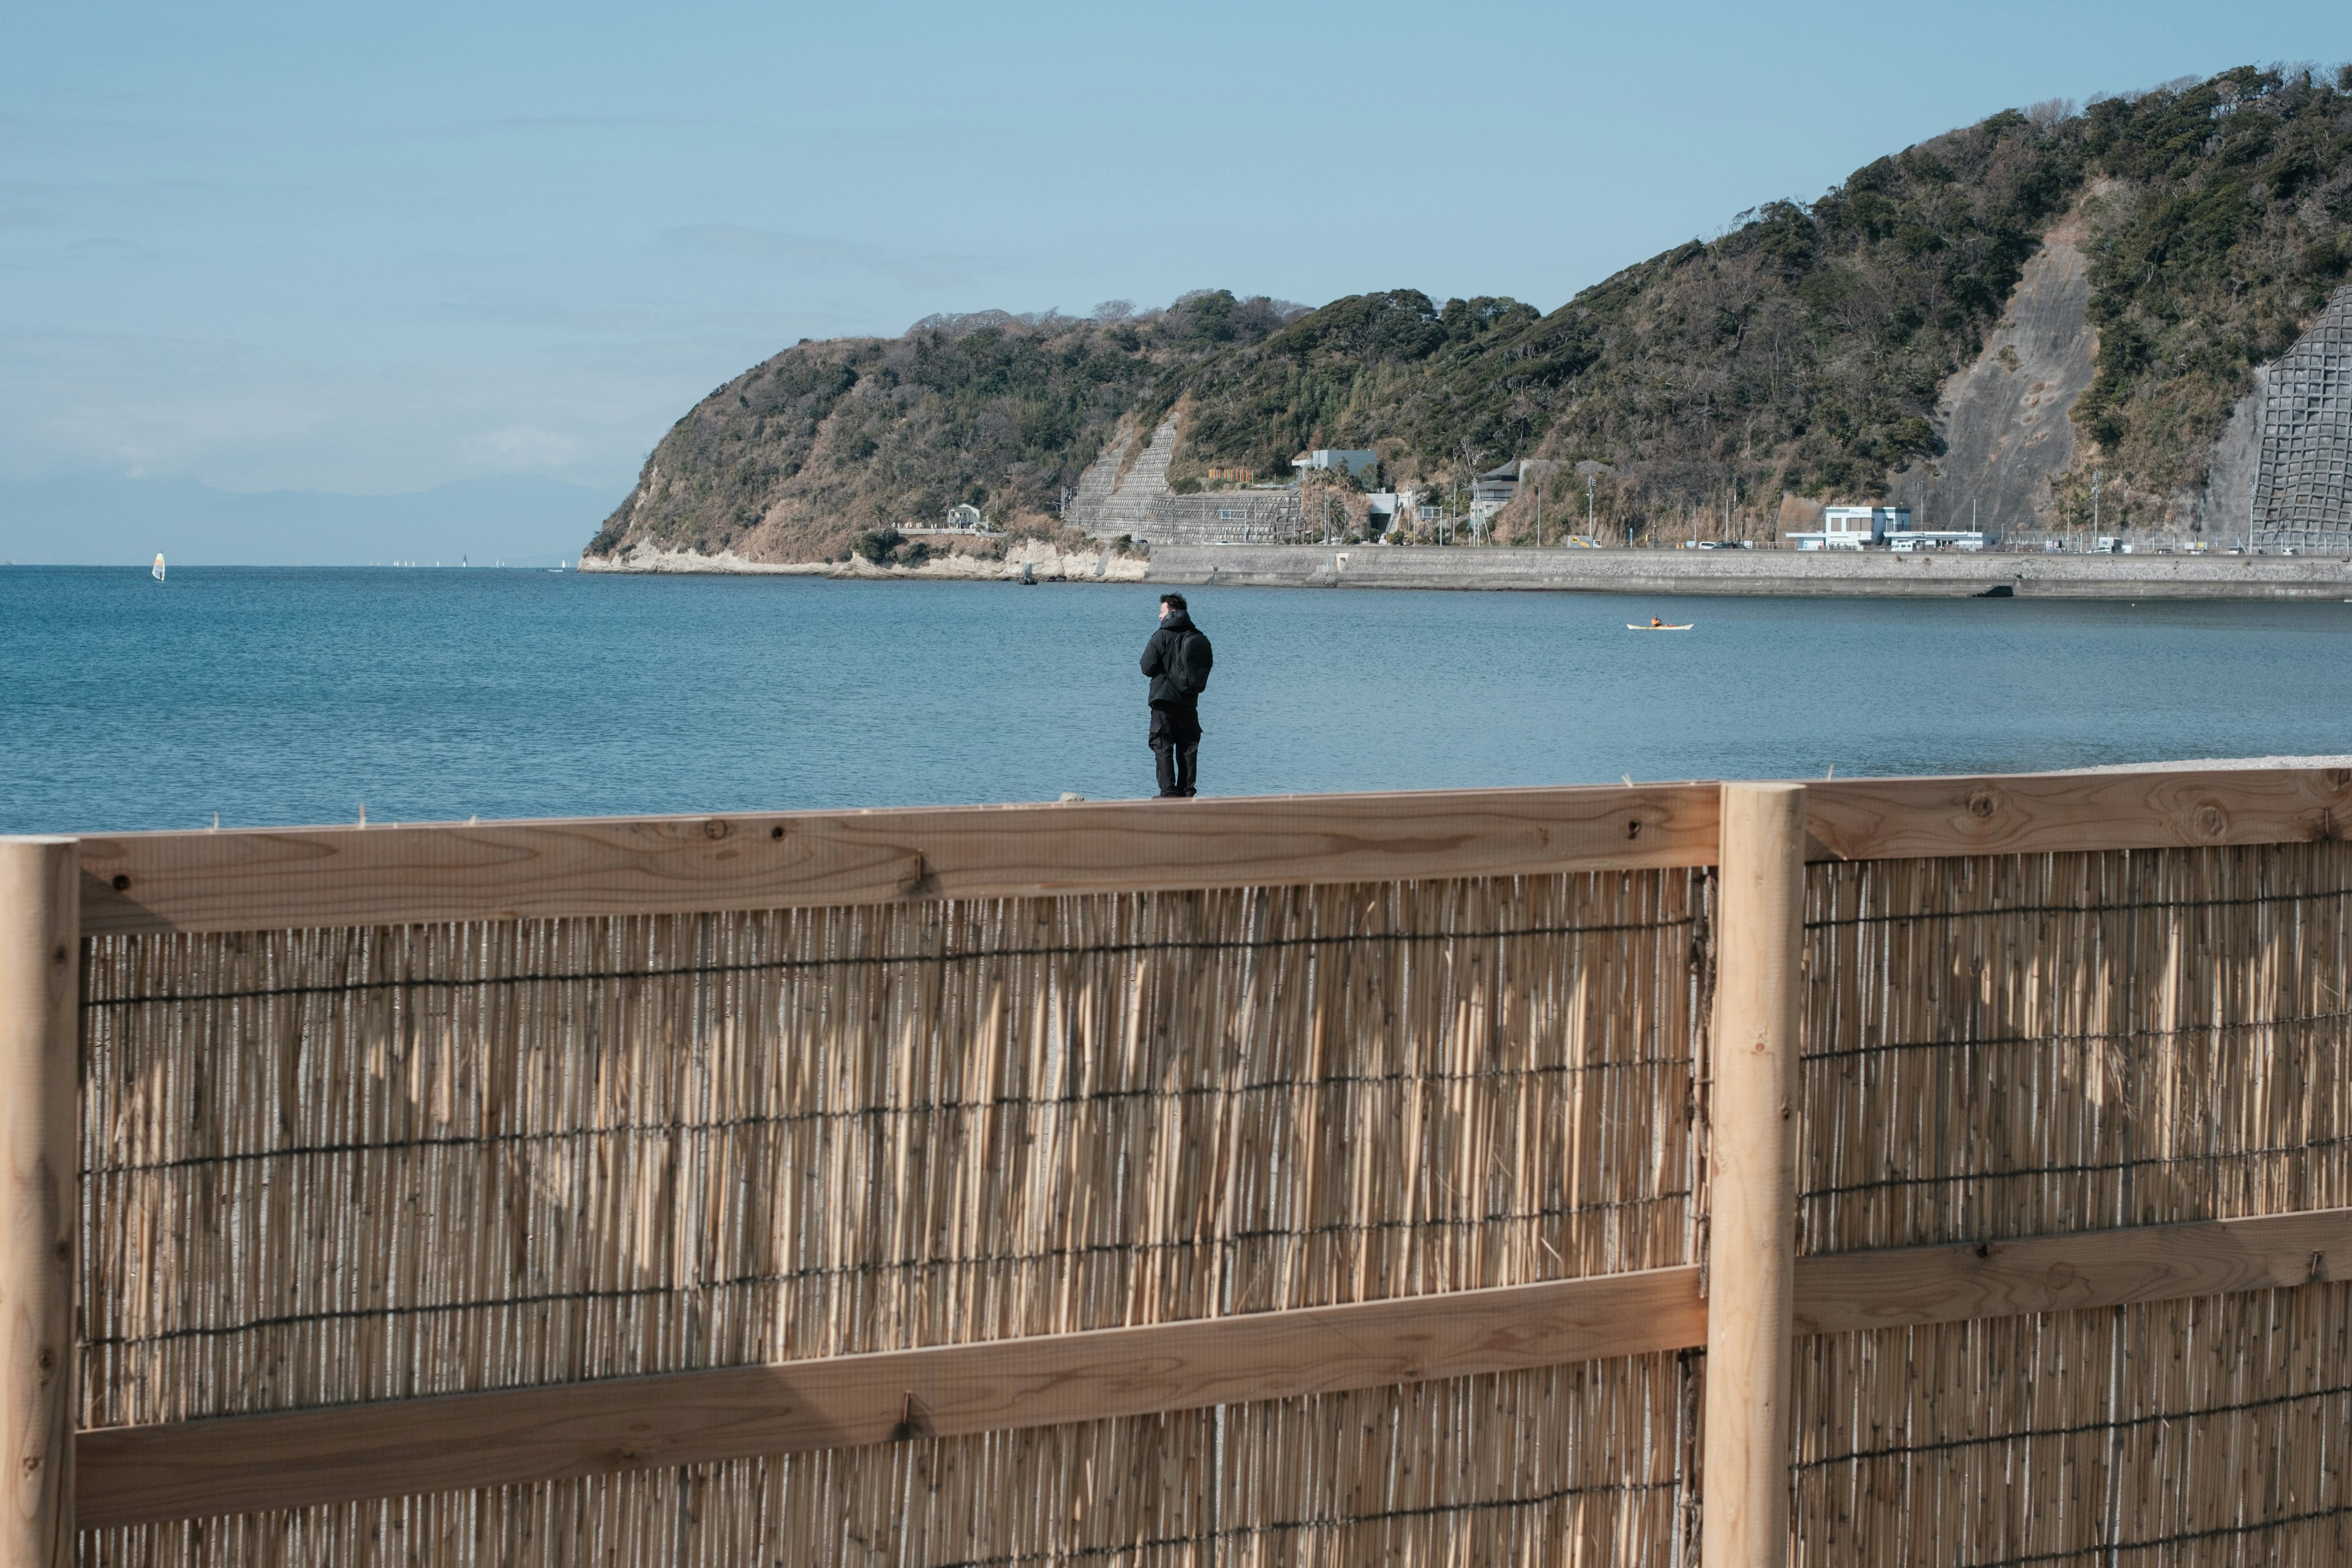
[(82, 839), (82, 929), (795, 905), (1708, 865), (1712, 785), (1430, 790)]

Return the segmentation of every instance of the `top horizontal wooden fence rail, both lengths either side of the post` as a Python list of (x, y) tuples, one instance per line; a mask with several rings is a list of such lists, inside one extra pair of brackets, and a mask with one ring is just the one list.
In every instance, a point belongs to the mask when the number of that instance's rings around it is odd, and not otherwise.
[[(2020, 773), (1806, 785), (1816, 860), (2284, 844), (2352, 773)], [(1715, 785), (256, 827), (82, 839), (82, 929), (268, 931), (691, 914), (1712, 865)]]

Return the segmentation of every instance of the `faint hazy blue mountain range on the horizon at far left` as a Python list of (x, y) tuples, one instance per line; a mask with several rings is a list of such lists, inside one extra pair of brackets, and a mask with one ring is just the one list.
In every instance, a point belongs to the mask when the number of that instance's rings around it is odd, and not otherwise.
[(607, 489), (557, 480), (456, 480), (405, 496), (315, 489), (240, 494), (195, 480), (0, 480), (0, 562), (143, 567), (365, 567), (470, 559), (553, 567), (579, 555)]

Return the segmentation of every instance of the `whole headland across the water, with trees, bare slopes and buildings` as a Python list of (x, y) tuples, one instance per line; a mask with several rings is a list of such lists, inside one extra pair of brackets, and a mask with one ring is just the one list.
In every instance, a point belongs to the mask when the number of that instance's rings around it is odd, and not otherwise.
[[(1675, 559), (1658, 576), (1658, 545), (1785, 543), (1884, 508), (1903, 517), (1886, 529), (2107, 536), (2157, 562), (2223, 541), (2345, 555), (2345, 190), (2352, 75), (2249, 66), (2082, 113), (1994, 113), (1555, 310), (1197, 289), (1160, 310), (978, 310), (800, 341), (687, 409), (581, 552), (990, 576), (931, 564), (938, 538), (1070, 550), (1075, 534), (1124, 557), (1345, 536), (1446, 557), (1416, 555), (1409, 581), (1501, 588), (1522, 574), (1451, 545), (1534, 548), (1566, 524), (1625, 552), (1545, 567), (1545, 585), (1997, 585), (1997, 562), (1947, 557)], [(2277, 576), (2006, 569), (2011, 592), (2260, 595)], [(2326, 569), (2286, 569), (2286, 592), (2312, 576)]]

